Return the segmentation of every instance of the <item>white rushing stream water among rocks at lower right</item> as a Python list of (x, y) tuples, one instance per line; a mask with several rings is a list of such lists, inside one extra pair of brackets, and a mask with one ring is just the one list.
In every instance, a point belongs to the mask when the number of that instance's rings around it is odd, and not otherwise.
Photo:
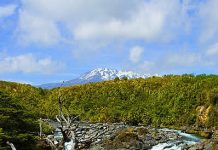
[(159, 129), (165, 132), (175, 132), (178, 135), (182, 136), (182, 140), (176, 141), (168, 141), (166, 143), (160, 143), (152, 147), (151, 150), (181, 150), (184, 145), (193, 145), (200, 141), (200, 138), (194, 136), (192, 134), (184, 133), (180, 130), (173, 130), (173, 129)]

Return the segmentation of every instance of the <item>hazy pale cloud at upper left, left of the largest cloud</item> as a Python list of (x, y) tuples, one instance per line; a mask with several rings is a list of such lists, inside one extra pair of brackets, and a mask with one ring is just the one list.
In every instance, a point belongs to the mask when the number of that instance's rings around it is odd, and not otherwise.
[(26, 11), (20, 11), (17, 34), (18, 41), (21, 44), (52, 45), (58, 43), (61, 39), (55, 22)]

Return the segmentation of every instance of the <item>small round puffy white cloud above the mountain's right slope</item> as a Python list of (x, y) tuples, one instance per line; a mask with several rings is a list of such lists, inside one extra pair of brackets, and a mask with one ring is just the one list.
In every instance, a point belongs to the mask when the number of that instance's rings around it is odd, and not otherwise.
[(138, 63), (141, 59), (141, 55), (143, 54), (144, 49), (140, 46), (135, 46), (130, 49), (129, 59), (133, 63)]

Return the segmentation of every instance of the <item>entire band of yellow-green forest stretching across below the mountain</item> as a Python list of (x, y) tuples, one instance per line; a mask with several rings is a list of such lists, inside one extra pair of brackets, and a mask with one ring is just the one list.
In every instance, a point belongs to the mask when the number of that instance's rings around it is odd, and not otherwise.
[(52, 90), (0, 81), (0, 142), (10, 140), (19, 145), (23, 141), (18, 139), (34, 141), (37, 120), (58, 114), (59, 91), (64, 111), (81, 120), (218, 127), (216, 75), (116, 79)]

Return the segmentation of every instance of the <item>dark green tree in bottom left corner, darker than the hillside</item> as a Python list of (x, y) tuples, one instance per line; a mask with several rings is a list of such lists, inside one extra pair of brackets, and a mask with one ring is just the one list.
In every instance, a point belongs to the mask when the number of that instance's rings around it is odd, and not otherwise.
[(16, 146), (22, 150), (36, 149), (36, 121), (18, 102), (0, 91), (0, 146), (9, 145), (12, 149)]

